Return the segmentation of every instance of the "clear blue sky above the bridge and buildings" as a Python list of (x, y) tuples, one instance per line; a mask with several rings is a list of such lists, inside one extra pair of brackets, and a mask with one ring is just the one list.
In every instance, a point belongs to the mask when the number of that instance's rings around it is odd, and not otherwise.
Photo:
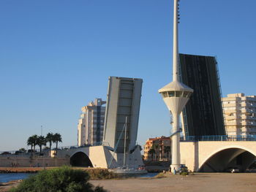
[[(180, 53), (217, 55), (222, 94), (256, 95), (255, 0), (181, 0)], [(0, 151), (32, 134), (77, 143), (80, 108), (108, 76), (143, 78), (138, 142), (168, 135), (173, 0), (1, 0)]]

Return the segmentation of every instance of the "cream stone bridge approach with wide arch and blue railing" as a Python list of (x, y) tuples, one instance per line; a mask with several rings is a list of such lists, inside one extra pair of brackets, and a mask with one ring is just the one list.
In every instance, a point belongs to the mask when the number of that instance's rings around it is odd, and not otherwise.
[(245, 172), (255, 159), (254, 137), (181, 137), (181, 164), (194, 172)]

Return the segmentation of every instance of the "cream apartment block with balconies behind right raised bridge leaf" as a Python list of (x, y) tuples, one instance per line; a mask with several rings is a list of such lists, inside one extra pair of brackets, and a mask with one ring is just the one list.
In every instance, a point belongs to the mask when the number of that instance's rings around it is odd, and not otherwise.
[(222, 103), (227, 135), (256, 137), (256, 96), (228, 94), (222, 98)]

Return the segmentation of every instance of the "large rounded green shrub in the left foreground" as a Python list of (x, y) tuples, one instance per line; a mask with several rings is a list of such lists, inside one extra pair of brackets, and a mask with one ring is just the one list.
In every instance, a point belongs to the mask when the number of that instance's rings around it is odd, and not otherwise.
[(87, 172), (64, 166), (39, 172), (23, 180), (11, 192), (105, 192), (101, 187), (94, 188), (88, 181)]

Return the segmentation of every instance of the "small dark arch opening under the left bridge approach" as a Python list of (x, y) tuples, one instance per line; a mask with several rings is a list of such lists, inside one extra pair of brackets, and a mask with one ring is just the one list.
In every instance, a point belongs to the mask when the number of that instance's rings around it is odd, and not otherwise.
[(93, 167), (89, 156), (83, 151), (77, 151), (70, 156), (69, 164), (71, 166)]

